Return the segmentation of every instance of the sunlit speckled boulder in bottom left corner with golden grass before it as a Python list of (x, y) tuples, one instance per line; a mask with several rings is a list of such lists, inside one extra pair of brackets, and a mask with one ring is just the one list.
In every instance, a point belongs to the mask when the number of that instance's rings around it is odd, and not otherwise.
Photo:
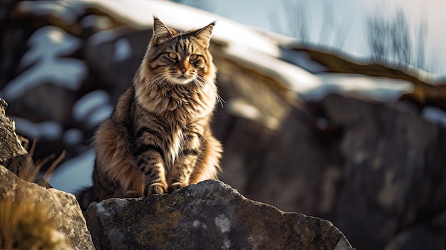
[(6, 229), (16, 233), (11, 235), (12, 238), (25, 235), (26, 241), (36, 239), (41, 244), (52, 243), (48, 249), (94, 249), (73, 194), (25, 182), (3, 166), (0, 166), (0, 208), (0, 213), (11, 211), (6, 217), (0, 216), (0, 231), (6, 234), (4, 220), (10, 219), (13, 226)]

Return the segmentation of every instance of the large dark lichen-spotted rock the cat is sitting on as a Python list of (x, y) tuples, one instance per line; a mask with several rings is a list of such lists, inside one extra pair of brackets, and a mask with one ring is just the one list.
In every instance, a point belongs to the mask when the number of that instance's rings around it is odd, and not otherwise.
[(281, 212), (215, 180), (93, 202), (86, 219), (97, 249), (352, 249), (330, 222)]

